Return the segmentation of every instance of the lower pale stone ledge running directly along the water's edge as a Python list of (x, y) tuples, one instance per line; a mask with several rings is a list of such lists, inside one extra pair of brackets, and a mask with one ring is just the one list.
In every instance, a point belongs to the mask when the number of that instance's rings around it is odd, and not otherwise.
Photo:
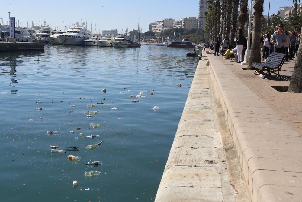
[(199, 61), (155, 202), (235, 202), (206, 67)]

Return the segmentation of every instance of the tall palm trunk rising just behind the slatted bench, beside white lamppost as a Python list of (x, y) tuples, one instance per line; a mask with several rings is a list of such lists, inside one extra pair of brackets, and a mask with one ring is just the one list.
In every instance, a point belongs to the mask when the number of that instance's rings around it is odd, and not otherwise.
[(252, 64), (254, 62), (261, 63), (261, 53), (260, 53), (260, 40), (261, 37), (261, 16), (263, 12), (263, 2), (264, 0), (254, 0), (254, 21), (253, 21), (253, 31), (252, 31), (252, 47), (249, 55), (249, 64), (247, 69), (253, 69)]

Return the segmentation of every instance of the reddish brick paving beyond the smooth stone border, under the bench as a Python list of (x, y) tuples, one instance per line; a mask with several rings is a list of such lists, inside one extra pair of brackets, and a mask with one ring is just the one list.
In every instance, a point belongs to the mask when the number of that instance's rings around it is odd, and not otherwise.
[[(291, 74), (294, 70), (295, 59), (285, 62), (281, 68), (279, 80), (277, 75), (262, 79), (254, 75), (254, 70), (243, 70), (247, 65), (236, 64), (234, 60), (217, 58), (246, 84), (256, 95), (265, 101), (283, 120), (302, 136), (302, 94), (279, 92), (271, 86), (289, 86)], [(265, 61), (262, 61), (265, 62)]]

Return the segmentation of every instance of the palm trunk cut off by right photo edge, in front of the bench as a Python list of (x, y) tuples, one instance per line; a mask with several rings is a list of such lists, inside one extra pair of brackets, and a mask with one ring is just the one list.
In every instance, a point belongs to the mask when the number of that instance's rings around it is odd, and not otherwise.
[(302, 93), (302, 48), (299, 46), (297, 60), (294, 67), (291, 81), (289, 82), (288, 93)]

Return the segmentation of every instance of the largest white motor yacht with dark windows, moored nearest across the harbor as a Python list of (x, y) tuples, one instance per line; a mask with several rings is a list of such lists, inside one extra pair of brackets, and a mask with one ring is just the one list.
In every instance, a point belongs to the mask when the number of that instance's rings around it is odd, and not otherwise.
[(58, 36), (63, 45), (85, 45), (85, 40), (89, 37), (84, 29), (77, 27), (69, 28), (66, 33)]

